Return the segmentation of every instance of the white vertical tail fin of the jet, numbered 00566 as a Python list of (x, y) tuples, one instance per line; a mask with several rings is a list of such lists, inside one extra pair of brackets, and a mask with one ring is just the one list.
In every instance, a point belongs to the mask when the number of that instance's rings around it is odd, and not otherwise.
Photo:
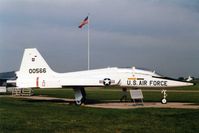
[(52, 69), (48, 66), (44, 58), (36, 48), (25, 49), (20, 66), (20, 73), (23, 74), (52, 74)]

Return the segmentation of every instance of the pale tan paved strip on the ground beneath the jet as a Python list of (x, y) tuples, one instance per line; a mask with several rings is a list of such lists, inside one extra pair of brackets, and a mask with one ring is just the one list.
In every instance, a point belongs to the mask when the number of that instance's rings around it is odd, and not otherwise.
[[(25, 98), (38, 101), (53, 101), (57, 103), (70, 104), (74, 103), (74, 99), (66, 98), (56, 98), (56, 97), (45, 97), (45, 96), (11, 96), (13, 98)], [(134, 104), (133, 102), (118, 102), (118, 101), (105, 101), (105, 102), (96, 102), (88, 103), (82, 105), (85, 107), (93, 108), (109, 108), (109, 109), (134, 109), (134, 108), (175, 108), (175, 109), (199, 109), (199, 104), (195, 103), (182, 103), (182, 102), (168, 102), (167, 104), (162, 104), (161, 102), (144, 102)]]

